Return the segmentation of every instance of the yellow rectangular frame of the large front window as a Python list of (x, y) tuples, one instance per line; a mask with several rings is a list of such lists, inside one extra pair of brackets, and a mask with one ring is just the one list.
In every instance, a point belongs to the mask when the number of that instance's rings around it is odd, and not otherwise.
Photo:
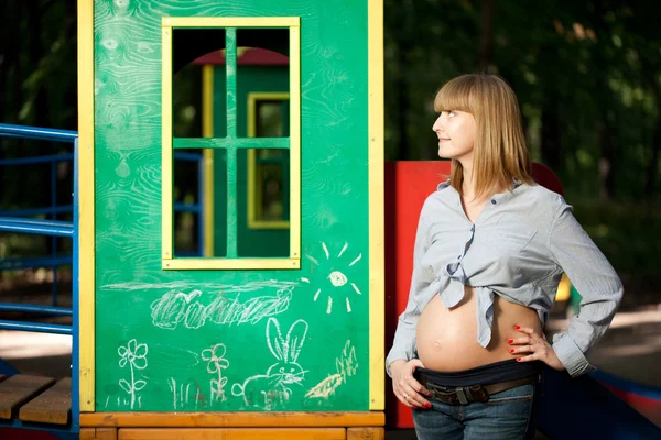
[[(174, 257), (172, 31), (174, 28), (289, 28), (290, 33), (290, 256)], [(297, 270), (301, 267), (301, 42), (297, 16), (166, 16), (162, 19), (162, 268), (163, 270)], [(215, 139), (229, 143), (230, 138)], [(249, 140), (249, 139), (248, 139)], [(241, 140), (241, 143), (245, 143)], [(259, 147), (259, 146), (256, 146)], [(248, 152), (252, 147), (248, 147)], [(235, 238), (236, 239), (236, 238)]]

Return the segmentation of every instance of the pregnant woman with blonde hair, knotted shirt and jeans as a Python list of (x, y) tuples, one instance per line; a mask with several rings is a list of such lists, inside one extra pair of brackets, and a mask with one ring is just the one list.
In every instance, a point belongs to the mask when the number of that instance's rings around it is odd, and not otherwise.
[[(512, 89), (464, 75), (434, 102), (447, 182), (420, 213), (409, 302), (387, 371), (427, 439), (527, 439), (535, 432), (542, 366), (578, 376), (622, 286), (572, 207), (530, 177)], [(568, 331), (543, 328), (566, 273), (583, 297)]]

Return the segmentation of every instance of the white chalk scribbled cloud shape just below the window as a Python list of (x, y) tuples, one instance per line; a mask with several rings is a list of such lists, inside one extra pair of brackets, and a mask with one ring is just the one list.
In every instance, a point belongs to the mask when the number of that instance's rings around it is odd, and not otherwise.
[(199, 329), (207, 322), (219, 326), (256, 324), (262, 319), (280, 315), (289, 309), (293, 286), (279, 288), (273, 294), (245, 298), (241, 294), (217, 294), (204, 305), (203, 293), (188, 294), (171, 290), (151, 304), (154, 326), (174, 330), (183, 324), (187, 329)]

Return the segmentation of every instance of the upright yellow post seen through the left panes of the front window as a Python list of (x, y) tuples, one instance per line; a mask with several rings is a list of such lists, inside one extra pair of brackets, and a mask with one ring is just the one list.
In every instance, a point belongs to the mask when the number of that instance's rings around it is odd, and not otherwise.
[[(202, 135), (214, 136), (214, 66), (202, 66)], [(203, 255), (214, 256), (214, 150), (205, 148), (202, 152), (204, 161), (204, 243)]]

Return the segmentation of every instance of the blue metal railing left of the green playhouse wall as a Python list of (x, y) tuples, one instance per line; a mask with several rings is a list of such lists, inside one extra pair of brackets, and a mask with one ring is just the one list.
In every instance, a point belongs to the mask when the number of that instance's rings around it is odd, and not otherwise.
[[(43, 234), (52, 237), (56, 240), (57, 237), (71, 238), (73, 240), (73, 252), (72, 252), (72, 308), (63, 307), (51, 307), (51, 306), (33, 306), (23, 304), (0, 304), (0, 311), (20, 311), (20, 312), (33, 312), (42, 315), (56, 315), (56, 316), (71, 316), (72, 324), (62, 326), (55, 323), (43, 323), (43, 322), (25, 322), (25, 321), (11, 321), (0, 320), (0, 329), (8, 330), (21, 330), (21, 331), (35, 331), (45, 333), (59, 333), (72, 336), (72, 425), (71, 432), (77, 432), (79, 428), (79, 367), (78, 367), (78, 353), (79, 353), (79, 329), (78, 329), (78, 133), (68, 130), (53, 130), (53, 129), (41, 129), (35, 127), (22, 127), (22, 125), (10, 125), (0, 124), (0, 136), (6, 138), (21, 138), (21, 139), (33, 139), (41, 141), (52, 142), (71, 142), (74, 145), (73, 154), (68, 155), (68, 160), (74, 163), (74, 185), (73, 185), (73, 200), (71, 205), (71, 212), (73, 215), (73, 221), (65, 222), (61, 220), (37, 220), (28, 219), (20, 217), (0, 217), (0, 231), (19, 232), (19, 233), (32, 233)], [(55, 179), (55, 163), (52, 157), (57, 157), (57, 161), (64, 160), (63, 156), (67, 155), (53, 155), (48, 161), (52, 164), (52, 186), (56, 184)], [(22, 162), (21, 162), (22, 161)], [(28, 161), (28, 162), (25, 162)], [(43, 157), (34, 157), (30, 160), (9, 160), (10, 164), (29, 164), (39, 163), (39, 161), (47, 162)], [(6, 161), (7, 164), (7, 161)], [(62, 207), (56, 205), (56, 189), (51, 188), (51, 202), (52, 210), (50, 213), (55, 218), (56, 213), (62, 212)], [(47, 211), (47, 210), (46, 210)], [(15, 211), (13, 212), (15, 216)], [(55, 243), (54, 243), (55, 244)], [(62, 261), (56, 255), (57, 249), (53, 246), (55, 254), (53, 255), (55, 262), (59, 264)], [(15, 258), (14, 258), (15, 260)], [(39, 258), (36, 258), (39, 260)], [(25, 262), (23, 262), (25, 264)], [(55, 272), (55, 271), (54, 271)], [(20, 424), (20, 421), (18, 421)]]

